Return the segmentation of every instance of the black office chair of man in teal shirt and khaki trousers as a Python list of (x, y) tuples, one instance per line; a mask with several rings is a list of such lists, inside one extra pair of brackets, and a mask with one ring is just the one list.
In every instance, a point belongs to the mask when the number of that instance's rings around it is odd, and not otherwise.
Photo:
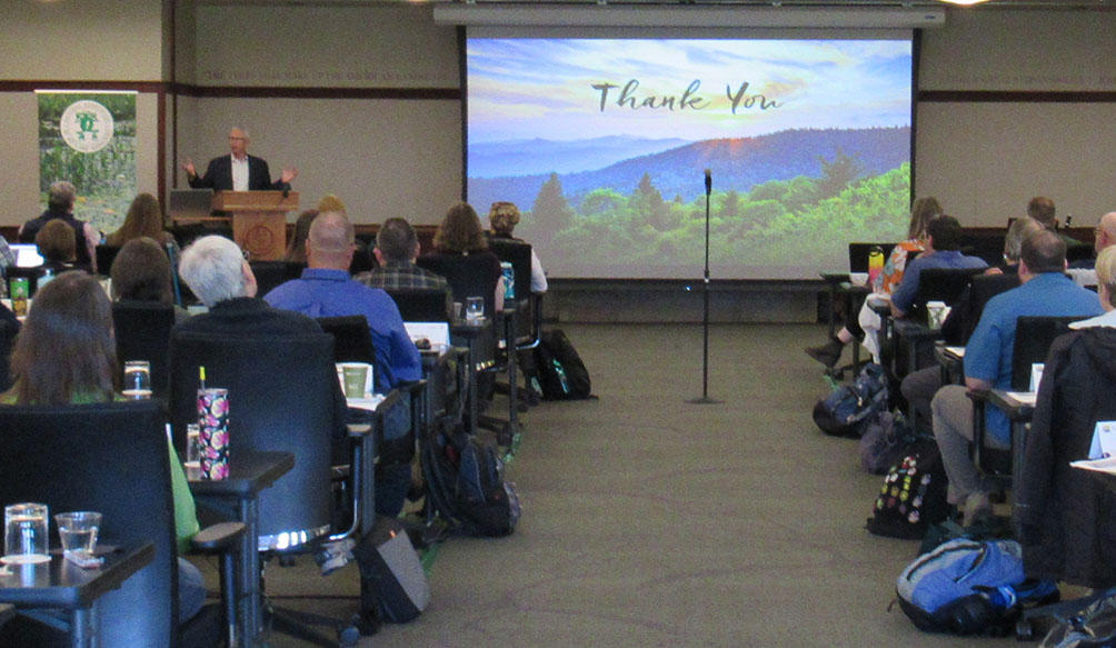
[[(1070, 331), (1069, 325), (1086, 319), (1084, 317), (1036, 317), (1024, 316), (1016, 320), (1016, 341), (1011, 352), (1011, 389), (1028, 391), (1031, 381), (1031, 365), (1045, 362), (1050, 346), (1058, 336)], [(1010, 487), (1012, 453), (984, 446), (984, 409), (988, 394), (970, 393), (973, 402), (972, 457), (977, 470), (1002, 487)]]

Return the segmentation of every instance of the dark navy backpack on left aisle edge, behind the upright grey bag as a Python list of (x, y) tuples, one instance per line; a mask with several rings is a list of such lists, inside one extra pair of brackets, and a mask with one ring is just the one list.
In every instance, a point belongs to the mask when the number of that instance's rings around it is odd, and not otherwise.
[(516, 484), (506, 481), (496, 447), (470, 436), (459, 423), (442, 425), (423, 444), (427, 505), (451, 531), (465, 535), (508, 535), (519, 521)]

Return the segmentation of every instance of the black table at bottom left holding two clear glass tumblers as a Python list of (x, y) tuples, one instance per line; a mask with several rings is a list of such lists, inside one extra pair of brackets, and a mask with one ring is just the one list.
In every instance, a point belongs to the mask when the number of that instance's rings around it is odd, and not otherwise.
[(155, 559), (152, 542), (122, 548), (99, 545), (96, 554), (105, 563), (81, 569), (51, 551), (50, 561), (9, 565), (0, 572), (0, 603), (10, 603), (19, 613), (36, 616), (41, 610), (61, 610), (69, 616), (69, 638), (74, 648), (94, 645), (97, 632), (96, 602), (121, 587), (132, 574)]

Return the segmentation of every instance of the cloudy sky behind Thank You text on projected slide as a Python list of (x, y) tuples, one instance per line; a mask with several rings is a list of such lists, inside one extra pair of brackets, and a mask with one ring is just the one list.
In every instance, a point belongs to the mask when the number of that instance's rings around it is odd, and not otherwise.
[[(470, 39), (470, 143), (605, 135), (701, 141), (786, 128), (864, 128), (911, 123), (908, 40)], [(672, 110), (616, 105), (673, 96)], [(705, 108), (680, 108), (693, 81)], [(733, 115), (727, 87), (781, 107)], [(604, 112), (594, 85), (608, 91)]]

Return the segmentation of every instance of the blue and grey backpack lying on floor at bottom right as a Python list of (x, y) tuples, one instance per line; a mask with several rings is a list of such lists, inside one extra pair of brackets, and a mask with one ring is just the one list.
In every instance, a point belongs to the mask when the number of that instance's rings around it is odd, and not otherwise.
[(895, 583), (920, 630), (1007, 634), (1022, 608), (1057, 599), (1054, 581), (1027, 581), (1014, 540), (951, 540), (908, 564)]

